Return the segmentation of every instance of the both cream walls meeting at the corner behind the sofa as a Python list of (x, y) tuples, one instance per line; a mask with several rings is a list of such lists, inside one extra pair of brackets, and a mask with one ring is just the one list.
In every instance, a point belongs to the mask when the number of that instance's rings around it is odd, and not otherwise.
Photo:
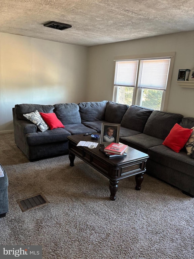
[(137, 54), (176, 52), (167, 111), (194, 117), (194, 89), (176, 83), (194, 67), (193, 46), (194, 32), (90, 48), (0, 33), (0, 133), (13, 129), (15, 104), (112, 100), (114, 58)]

